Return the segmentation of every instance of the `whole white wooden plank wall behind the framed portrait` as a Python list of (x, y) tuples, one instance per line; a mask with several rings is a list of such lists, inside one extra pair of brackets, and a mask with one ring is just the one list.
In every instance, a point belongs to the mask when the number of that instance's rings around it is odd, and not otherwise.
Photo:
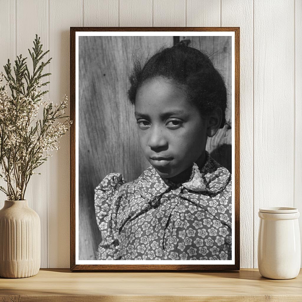
[[(302, 209), (302, 2), (0, 0), (0, 5), (0, 66), (16, 54), (28, 56), (37, 33), (53, 58), (47, 97), (54, 103), (69, 95), (71, 26), (241, 27), (240, 258), (242, 268), (257, 267), (258, 208)], [(41, 218), (44, 268), (69, 267), (69, 139), (68, 131), (25, 196)], [(0, 207), (5, 199), (0, 192)]]

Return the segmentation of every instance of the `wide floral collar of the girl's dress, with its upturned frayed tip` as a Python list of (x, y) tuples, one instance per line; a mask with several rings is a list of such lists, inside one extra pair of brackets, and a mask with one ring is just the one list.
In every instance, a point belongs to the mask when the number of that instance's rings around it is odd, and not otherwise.
[(198, 165), (192, 165), (191, 176), (187, 182), (175, 184), (169, 178), (161, 178), (153, 166), (146, 169), (137, 179), (141, 182), (140, 187), (145, 197), (157, 196), (167, 189), (186, 188), (193, 192), (206, 192), (217, 194), (230, 182), (230, 172), (216, 162), (206, 151), (206, 162), (199, 169)]

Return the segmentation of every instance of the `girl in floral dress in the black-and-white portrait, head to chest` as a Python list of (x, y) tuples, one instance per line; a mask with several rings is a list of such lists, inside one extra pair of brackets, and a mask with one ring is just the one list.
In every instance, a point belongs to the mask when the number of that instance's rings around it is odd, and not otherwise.
[(205, 150), (226, 122), (226, 88), (188, 43), (143, 68), (134, 62), (128, 97), (151, 166), (128, 183), (111, 173), (95, 188), (98, 260), (231, 259), (231, 174)]

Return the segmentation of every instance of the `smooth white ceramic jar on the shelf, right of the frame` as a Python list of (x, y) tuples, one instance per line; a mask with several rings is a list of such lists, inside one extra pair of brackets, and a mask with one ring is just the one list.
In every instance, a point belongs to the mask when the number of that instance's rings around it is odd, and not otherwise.
[(258, 268), (263, 277), (292, 279), (301, 264), (298, 209), (291, 207), (260, 208)]

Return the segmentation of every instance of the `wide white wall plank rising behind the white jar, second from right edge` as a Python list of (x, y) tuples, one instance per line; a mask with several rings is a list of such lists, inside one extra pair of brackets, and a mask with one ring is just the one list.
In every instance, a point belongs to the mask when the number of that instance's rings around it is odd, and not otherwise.
[(254, 3), (254, 267), (259, 207), (293, 206), (293, 1)]

